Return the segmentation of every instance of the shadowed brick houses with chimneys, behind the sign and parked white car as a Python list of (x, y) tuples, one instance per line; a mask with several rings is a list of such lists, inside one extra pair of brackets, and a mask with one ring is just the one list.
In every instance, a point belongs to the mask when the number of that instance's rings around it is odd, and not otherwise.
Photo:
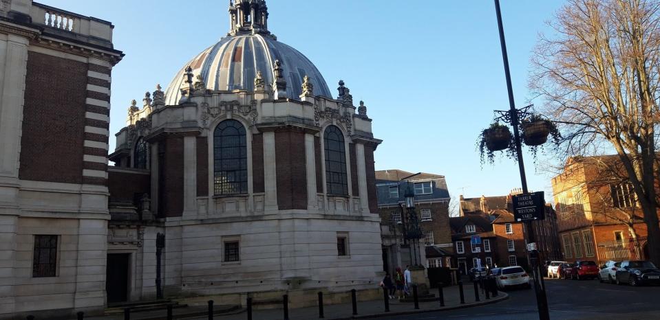
[[(481, 196), (480, 198), (460, 196), (460, 217), (451, 218), (451, 237), (454, 241), (457, 263), (461, 272), (465, 273), (469, 271), (469, 268), (476, 266), (476, 258), (481, 259), (482, 265), (491, 267), (528, 266), (526, 227), (522, 222), (516, 221), (512, 213), (511, 195), (518, 192), (520, 190), (513, 190), (507, 196)], [(466, 222), (466, 219), (469, 221)], [(470, 222), (474, 223), (478, 229), (473, 234), (478, 234), (482, 238), (482, 243), (476, 246), (469, 242), (473, 235), (469, 232), (473, 230), (472, 227), (469, 227)], [(545, 219), (533, 222), (533, 227), (536, 232), (540, 262), (559, 259), (560, 249), (555, 212), (550, 206), (546, 206)], [(467, 246), (469, 246), (469, 250), (467, 250)], [(462, 254), (460, 253), (461, 247), (465, 248), (462, 250)], [(489, 250), (487, 251), (487, 249)], [(473, 251), (480, 252), (475, 254)], [(485, 254), (487, 252), (490, 254)]]

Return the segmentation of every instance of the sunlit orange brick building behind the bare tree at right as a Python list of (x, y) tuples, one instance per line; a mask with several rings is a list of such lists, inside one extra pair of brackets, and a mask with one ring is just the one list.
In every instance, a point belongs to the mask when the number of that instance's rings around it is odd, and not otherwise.
[(619, 157), (608, 155), (568, 159), (552, 179), (564, 260), (647, 256), (646, 224), (626, 176)]

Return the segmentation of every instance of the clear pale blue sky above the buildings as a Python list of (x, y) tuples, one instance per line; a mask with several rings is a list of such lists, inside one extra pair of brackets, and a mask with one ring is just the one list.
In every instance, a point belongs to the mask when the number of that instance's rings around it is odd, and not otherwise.
[[(228, 1), (40, 0), (114, 25), (126, 56), (112, 73), (110, 131), (125, 126), (132, 99), (167, 87), (193, 56), (228, 31)], [(513, 92), (526, 87), (539, 32), (549, 32), (563, 1), (502, 0)], [(398, 168), (446, 176), (450, 194), (508, 194), (520, 187), (518, 165), (498, 158), (480, 168), (475, 148), (493, 109), (509, 108), (493, 1), (268, 0), (268, 28), (305, 54), (337, 95), (343, 79), (364, 100), (374, 135), (376, 170)], [(114, 150), (114, 136), (110, 139)], [(551, 157), (551, 162), (553, 161)], [(556, 161), (555, 161), (556, 162)], [(526, 156), (529, 188), (546, 191), (550, 176)], [(537, 174), (535, 172), (538, 172)]]

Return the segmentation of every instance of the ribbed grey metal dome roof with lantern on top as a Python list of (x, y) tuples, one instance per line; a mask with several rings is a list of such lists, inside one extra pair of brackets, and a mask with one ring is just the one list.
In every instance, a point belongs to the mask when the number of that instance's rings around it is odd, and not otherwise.
[(268, 8), (264, 0), (236, 0), (230, 3), (229, 14), (231, 32), (184, 65), (165, 91), (165, 104), (178, 104), (180, 89), (186, 84), (187, 67), (191, 67), (195, 78), (202, 75), (206, 89), (253, 91), (258, 71), (262, 73), (266, 89), (272, 89), (275, 60), (279, 60), (284, 69), (288, 97), (298, 99), (303, 78), (309, 76), (315, 95), (332, 98), (319, 69), (306, 56), (277, 41), (268, 32)]

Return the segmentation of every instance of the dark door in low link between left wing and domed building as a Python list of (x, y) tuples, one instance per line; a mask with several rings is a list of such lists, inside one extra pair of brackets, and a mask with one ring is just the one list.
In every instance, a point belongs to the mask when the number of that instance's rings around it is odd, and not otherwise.
[(105, 273), (105, 291), (108, 304), (128, 301), (128, 270), (130, 253), (108, 255)]

